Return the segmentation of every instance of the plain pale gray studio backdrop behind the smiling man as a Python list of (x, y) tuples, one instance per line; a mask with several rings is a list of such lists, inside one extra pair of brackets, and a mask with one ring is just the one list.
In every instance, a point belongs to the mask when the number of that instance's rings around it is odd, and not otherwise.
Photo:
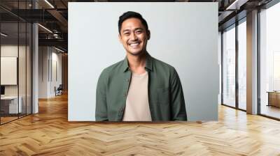
[(69, 121), (95, 120), (102, 70), (125, 58), (118, 18), (141, 13), (151, 30), (147, 50), (176, 68), (188, 120), (218, 120), (218, 3), (69, 3)]

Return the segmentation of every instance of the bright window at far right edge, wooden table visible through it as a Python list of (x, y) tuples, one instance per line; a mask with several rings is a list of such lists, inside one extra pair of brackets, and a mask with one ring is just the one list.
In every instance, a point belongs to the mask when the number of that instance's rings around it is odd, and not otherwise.
[(260, 12), (260, 114), (280, 118), (280, 3)]

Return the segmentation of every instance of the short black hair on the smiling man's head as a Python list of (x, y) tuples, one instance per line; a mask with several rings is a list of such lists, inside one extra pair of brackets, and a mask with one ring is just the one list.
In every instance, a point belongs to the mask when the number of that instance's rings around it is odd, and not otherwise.
[(146, 32), (148, 33), (148, 24), (146, 22), (146, 20), (142, 17), (141, 14), (136, 13), (134, 11), (127, 11), (126, 13), (123, 13), (123, 15), (121, 15), (119, 17), (118, 20), (118, 33), (120, 33), (120, 29), (122, 29), (122, 24), (125, 20), (129, 19), (129, 18), (137, 18), (141, 21), (141, 23), (145, 26)]

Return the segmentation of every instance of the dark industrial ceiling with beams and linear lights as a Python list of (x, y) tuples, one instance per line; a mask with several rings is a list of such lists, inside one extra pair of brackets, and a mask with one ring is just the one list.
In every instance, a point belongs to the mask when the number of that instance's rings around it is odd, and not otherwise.
[[(38, 22), (39, 45), (56, 46), (67, 50), (68, 2), (97, 2), (105, 0), (1, 0), (0, 17), (6, 30), (17, 32), (13, 22)], [(110, 0), (107, 0), (110, 1)], [(120, 0), (111, 0), (118, 2)], [(126, 1), (126, 0), (123, 0)], [(131, 1), (131, 0), (130, 0)], [(142, 0), (143, 1), (143, 0)], [(144, 0), (145, 1), (145, 0)], [(146, 0), (153, 2), (155, 0)], [(163, 0), (169, 2), (169, 0)], [(238, 18), (246, 17), (246, 12), (272, 0), (176, 0), (178, 2), (218, 2), (219, 30), (225, 29)], [(36, 8), (36, 9), (34, 9)], [(10, 23), (10, 24), (8, 24)], [(10, 25), (10, 26), (9, 26)], [(45, 28), (46, 29), (45, 29)], [(3, 29), (2, 29), (3, 30)], [(8, 32), (8, 31), (7, 31)], [(21, 33), (24, 31), (20, 31)]]

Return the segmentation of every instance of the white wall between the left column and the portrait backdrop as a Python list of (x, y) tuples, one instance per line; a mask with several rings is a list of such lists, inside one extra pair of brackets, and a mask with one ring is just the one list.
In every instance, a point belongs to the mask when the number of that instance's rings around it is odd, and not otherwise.
[(51, 98), (55, 96), (55, 86), (62, 84), (62, 54), (53, 47), (39, 47), (38, 51), (38, 98)]

